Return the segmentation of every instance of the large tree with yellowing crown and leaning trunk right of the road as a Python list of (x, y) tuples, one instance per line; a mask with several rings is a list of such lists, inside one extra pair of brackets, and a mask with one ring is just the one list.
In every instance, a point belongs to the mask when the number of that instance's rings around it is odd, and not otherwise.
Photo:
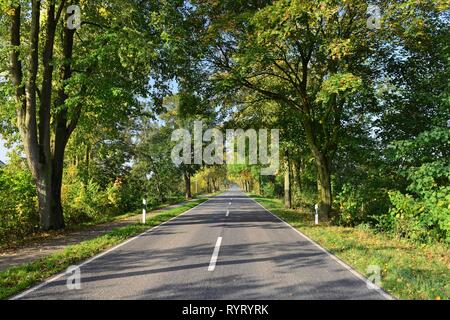
[(370, 75), (362, 72), (370, 48), (370, 36), (361, 36), (369, 33), (366, 9), (365, 1), (276, 1), (244, 12), (233, 27), (218, 21), (211, 28), (218, 34), (211, 62), (225, 85), (300, 113), (325, 218), (342, 110)]

